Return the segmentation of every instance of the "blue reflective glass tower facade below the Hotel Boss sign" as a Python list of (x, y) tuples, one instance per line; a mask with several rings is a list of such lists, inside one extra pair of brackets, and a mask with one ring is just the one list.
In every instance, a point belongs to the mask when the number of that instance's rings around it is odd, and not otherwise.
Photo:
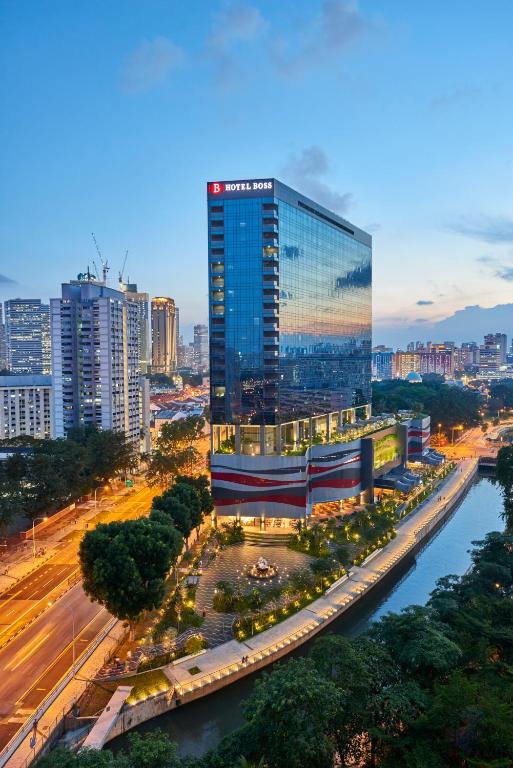
[(208, 205), (212, 424), (308, 436), (370, 403), (370, 236), (276, 180), (210, 184)]

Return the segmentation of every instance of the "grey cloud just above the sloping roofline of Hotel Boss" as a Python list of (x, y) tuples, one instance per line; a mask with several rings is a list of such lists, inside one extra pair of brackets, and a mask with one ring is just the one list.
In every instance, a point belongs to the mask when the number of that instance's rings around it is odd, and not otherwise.
[(301, 192), (310, 195), (321, 205), (336, 213), (343, 214), (353, 204), (351, 192), (340, 194), (320, 178), (329, 171), (329, 162), (324, 150), (318, 146), (306, 147), (300, 155), (291, 155), (282, 169), (285, 179), (297, 186)]

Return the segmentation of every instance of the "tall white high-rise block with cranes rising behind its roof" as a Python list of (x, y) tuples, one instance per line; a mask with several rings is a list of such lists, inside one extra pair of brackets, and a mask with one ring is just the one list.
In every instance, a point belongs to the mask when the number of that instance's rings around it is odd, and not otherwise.
[(125, 432), (138, 447), (138, 307), (83, 277), (50, 302), (55, 436), (95, 424)]

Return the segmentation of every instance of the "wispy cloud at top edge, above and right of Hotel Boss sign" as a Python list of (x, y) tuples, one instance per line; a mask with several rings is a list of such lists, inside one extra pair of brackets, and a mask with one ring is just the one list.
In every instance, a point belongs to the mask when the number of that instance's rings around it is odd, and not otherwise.
[(345, 53), (373, 24), (358, 7), (357, 0), (324, 0), (320, 12), (303, 18), (295, 37), (275, 36), (271, 54), (275, 66), (286, 75)]

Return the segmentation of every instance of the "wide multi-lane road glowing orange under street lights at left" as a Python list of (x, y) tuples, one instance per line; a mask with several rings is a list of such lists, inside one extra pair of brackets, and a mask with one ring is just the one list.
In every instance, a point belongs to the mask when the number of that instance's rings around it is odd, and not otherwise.
[[(98, 522), (128, 520), (149, 512), (158, 489), (142, 487), (111, 509), (102, 511)], [(47, 694), (71, 669), (73, 663), (73, 617), (75, 652), (78, 657), (111, 619), (110, 614), (92, 603), (81, 584), (68, 589), (67, 580), (78, 567), (78, 546), (85, 530), (78, 519), (54, 557), (19, 581), (0, 600), (0, 750), (25, 720), (33, 714)], [(51, 606), (56, 590), (67, 589)], [(37, 615), (42, 611), (40, 615)], [(37, 616), (19, 634), (20, 626)]]

